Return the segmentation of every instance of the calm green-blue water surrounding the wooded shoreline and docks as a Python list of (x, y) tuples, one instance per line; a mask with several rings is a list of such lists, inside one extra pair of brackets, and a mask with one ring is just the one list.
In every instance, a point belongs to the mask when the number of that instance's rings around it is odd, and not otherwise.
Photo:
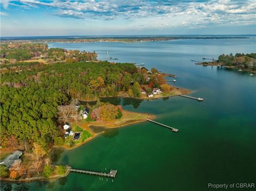
[(77, 191), (208, 190), (208, 183), (256, 184), (256, 77), (190, 61), (201, 61), (202, 57), (218, 59), (222, 53), (256, 52), (255, 39), (50, 43), (49, 47), (97, 51), (102, 59), (111, 56), (117, 57), (118, 62), (145, 63), (147, 68), (176, 74), (176, 86), (191, 89), (191, 95), (206, 99), (105, 99), (121, 103), (126, 110), (155, 114), (157, 121), (180, 131), (174, 134), (144, 122), (108, 131), (73, 151), (57, 150), (52, 155), (56, 164), (78, 169), (117, 169), (114, 182), (70, 173), (55, 182), (19, 187)]

